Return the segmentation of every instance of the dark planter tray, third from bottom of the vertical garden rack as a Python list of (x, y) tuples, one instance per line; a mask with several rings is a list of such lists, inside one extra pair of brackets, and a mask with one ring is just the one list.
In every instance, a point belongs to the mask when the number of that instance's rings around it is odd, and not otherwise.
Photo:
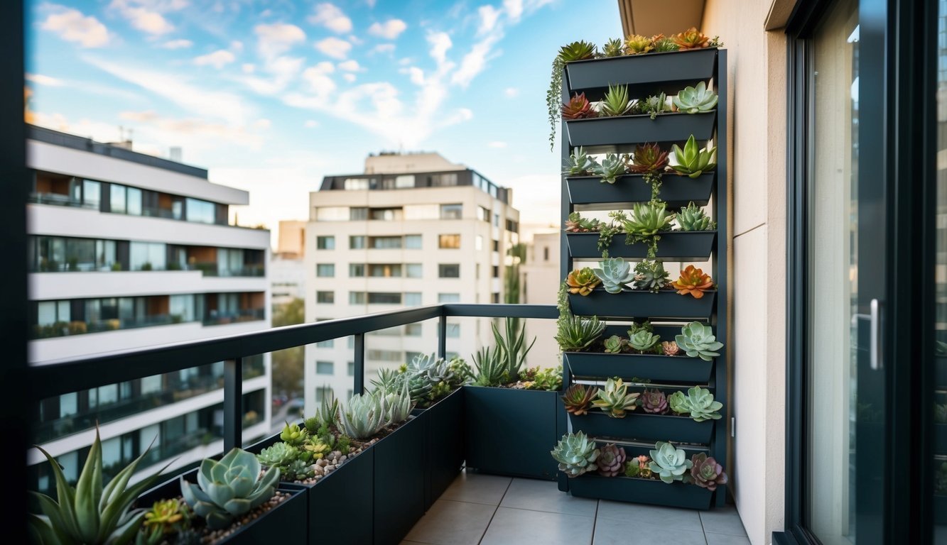
[(650, 378), (660, 384), (708, 384), (713, 361), (686, 356), (564, 352), (563, 362), (581, 378)]

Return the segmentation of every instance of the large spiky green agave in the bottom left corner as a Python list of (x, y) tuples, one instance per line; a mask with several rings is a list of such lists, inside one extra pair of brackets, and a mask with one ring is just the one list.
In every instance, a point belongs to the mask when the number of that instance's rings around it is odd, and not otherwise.
[[(150, 448), (119, 471), (115, 478), (102, 486), (102, 444), (98, 437), (89, 448), (85, 465), (75, 486), (70, 485), (63, 469), (45, 449), (37, 447), (49, 462), (56, 482), (57, 499), (30, 492), (38, 501), (42, 515), (28, 515), (29, 531), (41, 543), (129, 543), (145, 518), (144, 509), (132, 509), (138, 496), (150, 488), (161, 474), (157, 471), (129, 485), (135, 467)], [(167, 466), (165, 466), (167, 467)]]

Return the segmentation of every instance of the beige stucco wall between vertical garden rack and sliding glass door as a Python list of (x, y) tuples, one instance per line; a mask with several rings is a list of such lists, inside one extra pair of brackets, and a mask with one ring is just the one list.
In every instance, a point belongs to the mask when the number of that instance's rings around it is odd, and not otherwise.
[(754, 545), (782, 530), (785, 495), (786, 38), (781, 29), (765, 30), (773, 4), (707, 0), (703, 25), (728, 52), (728, 343), (736, 418), (729, 472)]

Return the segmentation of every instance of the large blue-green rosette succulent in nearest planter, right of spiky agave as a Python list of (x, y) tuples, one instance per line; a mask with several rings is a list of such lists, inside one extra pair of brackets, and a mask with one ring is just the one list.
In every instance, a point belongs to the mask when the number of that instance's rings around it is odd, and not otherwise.
[(279, 468), (259, 474), (257, 457), (232, 448), (221, 461), (205, 458), (197, 473), (197, 484), (181, 477), (181, 494), (194, 513), (203, 517), (207, 528), (226, 528), (233, 519), (273, 497), (279, 482)]

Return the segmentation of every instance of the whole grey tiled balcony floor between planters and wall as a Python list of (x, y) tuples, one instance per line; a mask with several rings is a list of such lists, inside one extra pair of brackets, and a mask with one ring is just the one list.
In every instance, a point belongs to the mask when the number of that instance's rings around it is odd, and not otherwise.
[(749, 545), (732, 506), (713, 511), (573, 498), (556, 483), (461, 473), (402, 545)]

